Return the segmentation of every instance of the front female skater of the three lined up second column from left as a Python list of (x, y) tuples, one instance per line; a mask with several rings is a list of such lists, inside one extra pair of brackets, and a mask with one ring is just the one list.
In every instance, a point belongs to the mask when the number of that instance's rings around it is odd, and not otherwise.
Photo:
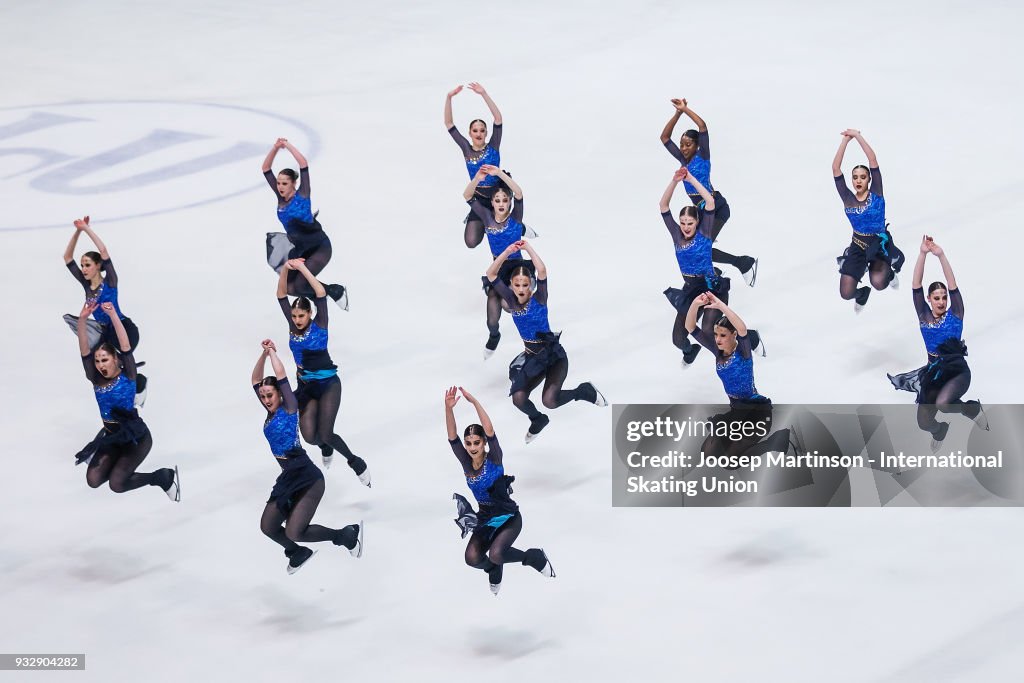
[[(299, 402), (288, 385), (278, 349), (269, 339), (263, 340), (262, 347), (263, 352), (253, 368), (253, 390), (266, 409), (263, 435), (281, 466), (281, 474), (263, 509), (260, 530), (285, 549), (288, 573), (298, 571), (313, 556), (314, 551), (299, 543), (330, 541), (344, 546), (354, 557), (362, 557), (361, 521), (344, 528), (310, 523), (324, 497), (324, 473), (309, 460), (299, 441)], [(273, 375), (263, 377), (267, 358)]]

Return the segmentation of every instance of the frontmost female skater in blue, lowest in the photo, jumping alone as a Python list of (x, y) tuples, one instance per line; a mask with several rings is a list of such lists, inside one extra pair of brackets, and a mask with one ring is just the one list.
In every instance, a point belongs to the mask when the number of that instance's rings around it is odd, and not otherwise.
[(466, 485), (479, 506), (479, 510), (474, 511), (465, 497), (459, 494), (454, 497), (459, 509), (459, 518), (455, 521), (462, 529), (462, 538), (472, 533), (466, 546), (466, 564), (486, 572), (490, 592), (495, 595), (502, 587), (502, 565), (510, 562), (520, 562), (545, 577), (554, 578), (555, 569), (543, 548), (523, 551), (512, 547), (522, 531), (522, 515), (511, 498), (515, 477), (505, 474), (502, 446), (480, 401), (462, 387), (458, 387), (458, 391), (476, 409), (480, 418), (479, 424), (466, 427), (463, 441), (460, 441), (454, 412), (459, 395), (456, 387), (444, 392), (449, 445), (459, 459)]

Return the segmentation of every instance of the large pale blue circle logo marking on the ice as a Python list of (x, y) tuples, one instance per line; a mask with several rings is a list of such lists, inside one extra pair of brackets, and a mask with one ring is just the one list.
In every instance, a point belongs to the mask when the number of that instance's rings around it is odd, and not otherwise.
[[(319, 136), (296, 119), (211, 102), (109, 100), (0, 109), (0, 231), (141, 218), (265, 187), (278, 137), (307, 159)], [(295, 166), (287, 152), (275, 169)], [(269, 193), (267, 193), (269, 195)], [(270, 201), (271, 198), (267, 198)]]

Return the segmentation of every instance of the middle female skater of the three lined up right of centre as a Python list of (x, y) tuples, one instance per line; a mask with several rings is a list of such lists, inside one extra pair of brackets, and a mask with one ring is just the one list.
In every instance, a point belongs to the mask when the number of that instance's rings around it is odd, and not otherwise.
[[(703, 201), (703, 210), (695, 206), (683, 207), (679, 212), (679, 221), (672, 216), (670, 203), (676, 187), (680, 182), (688, 182)], [(715, 236), (715, 216), (718, 203), (703, 183), (695, 178), (686, 167), (672, 175), (672, 181), (662, 195), (659, 203), (662, 220), (669, 229), (669, 237), (676, 248), (676, 262), (679, 272), (683, 275), (683, 289), (670, 287), (665, 290), (669, 303), (676, 309), (676, 322), (672, 328), (672, 343), (683, 352), (682, 367), (688, 368), (700, 351), (699, 344), (693, 344), (687, 339), (686, 314), (693, 300), (711, 292), (722, 301), (729, 301), (729, 279), (723, 278), (712, 263), (712, 244)], [(722, 316), (721, 311), (710, 309), (701, 312), (701, 327), (705, 336), (711, 338), (713, 329)], [(757, 348), (761, 338), (756, 330), (751, 331), (751, 344)], [(763, 349), (762, 349), (763, 350)]]

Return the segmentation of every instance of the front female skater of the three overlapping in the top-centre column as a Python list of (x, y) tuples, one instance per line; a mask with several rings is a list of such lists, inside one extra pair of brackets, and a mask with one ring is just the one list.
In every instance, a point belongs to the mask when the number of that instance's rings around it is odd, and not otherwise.
[[(510, 285), (506, 285), (498, 273), (505, 261), (519, 250), (529, 254), (531, 263), (516, 265), (509, 275)], [(531, 268), (537, 275), (537, 292), (534, 292), (530, 282)], [(520, 241), (509, 245), (490, 262), (486, 278), (490, 287), (508, 304), (512, 322), (526, 347), (509, 366), (509, 380), (512, 381), (509, 395), (512, 396), (512, 403), (529, 418), (526, 442), (537, 438), (551, 421), (529, 399), (530, 392), (541, 382), (544, 382), (542, 402), (545, 408), (554, 410), (572, 400), (607, 405), (608, 401), (590, 382), (584, 382), (570, 391), (562, 389), (569, 372), (569, 360), (558, 341), (560, 333), (551, 332), (548, 324), (548, 269), (529, 243)]]

